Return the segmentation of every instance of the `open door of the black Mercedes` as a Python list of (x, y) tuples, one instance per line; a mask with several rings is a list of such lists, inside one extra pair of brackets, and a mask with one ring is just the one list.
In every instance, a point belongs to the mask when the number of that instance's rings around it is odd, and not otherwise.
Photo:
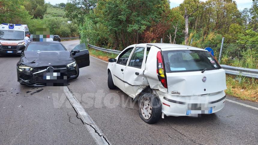
[[(75, 51), (77, 52), (75, 53)], [(90, 65), (90, 55), (85, 43), (75, 46), (74, 49), (71, 51), (71, 54), (76, 60), (79, 68), (87, 67)]]

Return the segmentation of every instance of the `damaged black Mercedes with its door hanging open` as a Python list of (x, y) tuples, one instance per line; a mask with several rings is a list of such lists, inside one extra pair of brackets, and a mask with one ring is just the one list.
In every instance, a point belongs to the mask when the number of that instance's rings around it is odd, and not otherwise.
[[(71, 52), (57, 41), (29, 42), (17, 63), (17, 77), (20, 84), (45, 86), (49, 83), (62, 84), (77, 78), (79, 68), (89, 66), (89, 52), (85, 43)], [(59, 85), (60, 86), (60, 85)]]

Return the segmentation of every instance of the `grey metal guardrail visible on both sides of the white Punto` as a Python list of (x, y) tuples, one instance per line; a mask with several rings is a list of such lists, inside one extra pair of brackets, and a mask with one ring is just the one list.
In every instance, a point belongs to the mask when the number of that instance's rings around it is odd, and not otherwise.
[[(119, 54), (121, 51), (112, 50), (112, 49), (105, 49), (98, 46), (93, 46), (88, 44), (90, 48), (97, 49), (100, 51), (108, 52), (108, 53), (115, 53)], [(228, 75), (238, 75), (238, 76), (245, 76), (247, 78), (255, 78), (258, 79), (258, 70), (256, 69), (248, 69), (243, 67), (232, 67), (228, 65), (220, 65)]]

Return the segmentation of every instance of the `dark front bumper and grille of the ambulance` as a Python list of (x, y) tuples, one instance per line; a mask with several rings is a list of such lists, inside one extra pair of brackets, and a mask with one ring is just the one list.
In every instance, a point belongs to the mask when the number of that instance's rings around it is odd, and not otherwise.
[[(11, 48), (8, 48), (11, 47)], [(16, 46), (7, 46), (7, 45), (0, 45), (0, 54), (1, 55), (16, 55), (16, 52), (19, 50), (24, 50), (24, 45), (16, 45)], [(7, 53), (11, 52), (11, 53)]]

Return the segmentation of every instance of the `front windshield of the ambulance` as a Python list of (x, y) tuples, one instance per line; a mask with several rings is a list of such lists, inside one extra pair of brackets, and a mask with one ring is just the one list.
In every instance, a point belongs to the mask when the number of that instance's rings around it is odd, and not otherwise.
[(0, 40), (23, 40), (24, 31), (0, 30)]

